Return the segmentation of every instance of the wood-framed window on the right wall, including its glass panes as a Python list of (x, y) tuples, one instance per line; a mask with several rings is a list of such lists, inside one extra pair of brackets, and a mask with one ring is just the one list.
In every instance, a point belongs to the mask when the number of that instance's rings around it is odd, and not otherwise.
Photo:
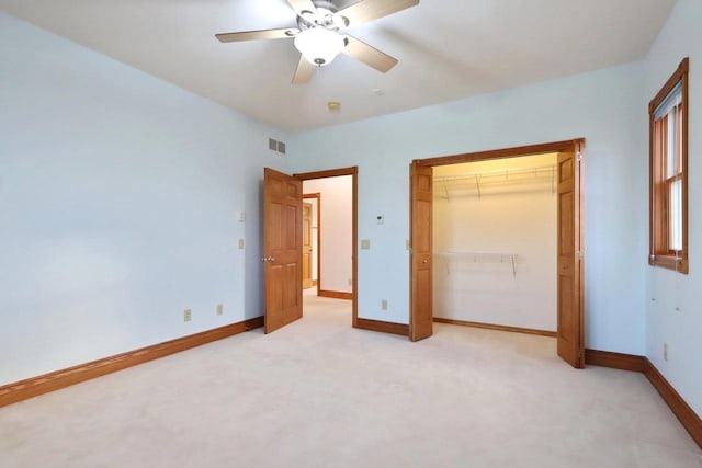
[(684, 58), (648, 105), (650, 250), (654, 266), (689, 272), (688, 70)]

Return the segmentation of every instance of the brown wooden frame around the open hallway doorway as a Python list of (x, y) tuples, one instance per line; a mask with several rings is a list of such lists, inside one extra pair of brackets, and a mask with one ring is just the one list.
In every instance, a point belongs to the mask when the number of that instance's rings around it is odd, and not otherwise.
[[(359, 168), (353, 165), (351, 168), (330, 169), (325, 171), (303, 172), (293, 174), (293, 178), (299, 181), (310, 181), (315, 179), (338, 178), (340, 175), (351, 175), (351, 326), (356, 327), (359, 320), (359, 262), (358, 262), (358, 244), (359, 244)], [(317, 205), (319, 207), (319, 205)], [(319, 218), (318, 221), (319, 224)], [(321, 228), (321, 226), (318, 226)], [(321, 239), (320, 239), (321, 240)], [(319, 252), (319, 246), (317, 248)], [(321, 284), (321, 262), (317, 264), (317, 294), (319, 294), (319, 286)], [(302, 289), (302, 282), (299, 284)]]

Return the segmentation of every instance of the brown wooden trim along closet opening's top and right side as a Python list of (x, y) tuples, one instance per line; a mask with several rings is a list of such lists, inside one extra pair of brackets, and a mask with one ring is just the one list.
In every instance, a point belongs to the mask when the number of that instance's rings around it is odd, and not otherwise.
[[(426, 158), (426, 159), (416, 159), (412, 161), (414, 164), (418, 167), (435, 167), (435, 165), (451, 165), (451, 164), (461, 164), (465, 162), (476, 162), (476, 161), (487, 161), (495, 159), (506, 159), (506, 158), (516, 158), (522, 156), (534, 156), (534, 155), (543, 155), (548, 152), (563, 152), (565, 150), (569, 150), (576, 148), (578, 159), (581, 158), (581, 152), (585, 148), (585, 138), (575, 138), (570, 140), (563, 141), (553, 141), (537, 145), (528, 145), (512, 148), (502, 148), (502, 149), (494, 149), (487, 151), (477, 151), (477, 152), (468, 152), (461, 155), (452, 155), (452, 156), (443, 156), (435, 158)], [(580, 252), (585, 252), (585, 210), (584, 210), (584, 201), (585, 201), (585, 170), (581, 167), (579, 171), (579, 183), (576, 184), (577, 187), (577, 198), (579, 201), (578, 212), (579, 218), (575, 221), (575, 236), (580, 239)], [(410, 209), (412, 209), (410, 207)], [(584, 259), (584, 256), (581, 258)], [(579, 267), (579, 287), (578, 287), (578, 308), (579, 308), (579, 320), (580, 320), (580, 350), (581, 350), (581, 358), (580, 358), (580, 367), (585, 366), (585, 261), (581, 260), (578, 262)], [(411, 266), (410, 266), (410, 277), (411, 277)], [(557, 274), (557, 272), (556, 272)], [(411, 292), (410, 292), (411, 294)], [(410, 310), (410, 315), (411, 315)], [(433, 311), (432, 311), (433, 313)], [(410, 317), (411, 321), (411, 317)]]

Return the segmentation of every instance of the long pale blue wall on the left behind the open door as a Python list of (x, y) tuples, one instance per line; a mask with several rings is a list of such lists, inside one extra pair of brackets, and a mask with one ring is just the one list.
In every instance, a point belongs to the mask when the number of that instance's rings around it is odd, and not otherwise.
[(285, 135), (2, 13), (0, 64), (0, 385), (262, 313)]

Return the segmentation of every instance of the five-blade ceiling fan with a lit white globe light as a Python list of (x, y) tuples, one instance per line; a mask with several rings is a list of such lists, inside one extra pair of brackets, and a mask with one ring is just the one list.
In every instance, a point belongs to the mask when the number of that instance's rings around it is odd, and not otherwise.
[(419, 0), (361, 0), (338, 10), (330, 1), (287, 0), (297, 14), (297, 27), (278, 30), (244, 31), (215, 34), (223, 43), (294, 38), (301, 57), (293, 84), (306, 83), (314, 71), (326, 65), (340, 53), (385, 73), (397, 59), (365, 44), (341, 30), (358, 26), (378, 18), (387, 16), (419, 3)]

